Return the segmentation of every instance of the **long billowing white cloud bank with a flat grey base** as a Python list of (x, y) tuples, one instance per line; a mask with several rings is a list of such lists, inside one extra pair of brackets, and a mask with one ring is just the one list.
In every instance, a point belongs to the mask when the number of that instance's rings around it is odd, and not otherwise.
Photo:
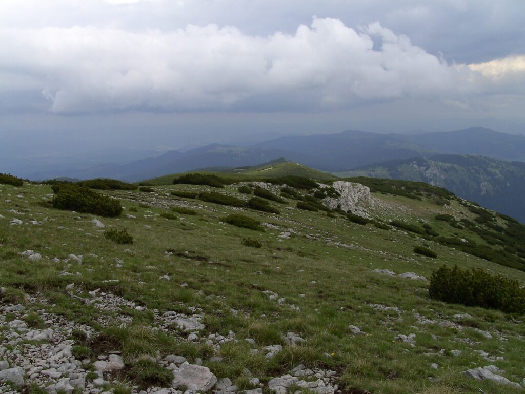
[(55, 113), (257, 110), (250, 105), (271, 108), (272, 102), (345, 108), (366, 100), (454, 99), (475, 89), (477, 74), (448, 65), (380, 23), (354, 30), (331, 18), (265, 37), (214, 24), (172, 32), (3, 29), (0, 47), (0, 72), (30, 79)]

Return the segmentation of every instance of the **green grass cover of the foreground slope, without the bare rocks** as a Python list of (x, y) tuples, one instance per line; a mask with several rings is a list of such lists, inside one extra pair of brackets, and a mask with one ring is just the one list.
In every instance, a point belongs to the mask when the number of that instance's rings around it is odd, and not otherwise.
[[(360, 226), (339, 215), (334, 219), (295, 208), (286, 210), (282, 206), (279, 207), (281, 215), (246, 210), (245, 214), (249, 216), (279, 225), (282, 231), (294, 232), (290, 239), (282, 240), (279, 230), (259, 233), (219, 224), (225, 214), (238, 213), (238, 210), (165, 195), (174, 189), (207, 188), (170, 185), (156, 187), (156, 193), (109, 193), (122, 199), (126, 208), (124, 214), (137, 216), (137, 219), (126, 219), (124, 215), (102, 219), (107, 228), (126, 228), (134, 236), (133, 245), (117, 245), (104, 239), (102, 231), (93, 228), (90, 221), (94, 216), (57, 211), (38, 204), (46, 195), (49, 197), (51, 189), (48, 185), (26, 184), (22, 188), (0, 185), (0, 212), (5, 216), (0, 219), (0, 286), (23, 288), (30, 293), (43, 292), (55, 301), (55, 312), (94, 327), (97, 327), (98, 310), (67, 297), (64, 288), (68, 283), (76, 283), (85, 291), (102, 287), (149, 309), (201, 307), (205, 315), (205, 333), (217, 332), (227, 336), (228, 331), (233, 330), (238, 338), (254, 338), (259, 348), (279, 343), (279, 334), (288, 331), (307, 339), (306, 345), (285, 347), (282, 354), (271, 362), (266, 362), (260, 354), (251, 355), (250, 347), (244, 341), (224, 345), (219, 351), (224, 357), (222, 362), (205, 361), (218, 377), (232, 378), (239, 385), (242, 382), (241, 370), (245, 367), (255, 376), (268, 379), (303, 362), (307, 366), (326, 365), (337, 370), (340, 387), (346, 392), (358, 392), (351, 391), (351, 388), (399, 394), (474, 393), (479, 392), (478, 389), (486, 393), (518, 392), (491, 382), (471, 380), (461, 371), (495, 364), (507, 370), (505, 376), (509, 379), (521, 381), (524, 377), (523, 325), (497, 311), (447, 305), (429, 299), (425, 282), (371, 271), (387, 268), (397, 273), (408, 271), (429, 276), (435, 268), (446, 263), (490, 269), (523, 282), (525, 273), (432, 242), (428, 243), (438, 253), (437, 259), (415, 255), (414, 246), (423, 243), (417, 237), (397, 230)], [(223, 191), (235, 193), (235, 190), (235, 185), (232, 185)], [(435, 221), (436, 213), (474, 216), (456, 202), (448, 210), (427, 201), (389, 194), (376, 196), (383, 201), (377, 205), (377, 216), (385, 219), (401, 217), (414, 223), (418, 219), (428, 220), (446, 236), (458, 230)], [(151, 208), (141, 208), (140, 202), (150, 204)], [(172, 205), (192, 206), (198, 215), (181, 215), (184, 220), (176, 221), (159, 216)], [(130, 212), (130, 208), (138, 212)], [(8, 212), (10, 209), (24, 215)], [(9, 226), (8, 221), (13, 217), (23, 219), (24, 223), (34, 219), (43, 224)], [(58, 229), (60, 226), (66, 228)], [(245, 236), (260, 240), (263, 247), (254, 249), (241, 245)], [(132, 255), (124, 252), (128, 248), (133, 251)], [(29, 262), (18, 255), (26, 249), (44, 257), (60, 259), (75, 253), (84, 255), (85, 260), (79, 266), (51, 263), (46, 258)], [(167, 256), (164, 252), (168, 249), (204, 258)], [(90, 253), (99, 257), (90, 257)], [(124, 261), (123, 267), (114, 266), (114, 257)], [(151, 271), (145, 266), (159, 269)], [(60, 276), (59, 272), (64, 269), (79, 272), (81, 276)], [(159, 279), (165, 274), (172, 277), (171, 282)], [(119, 282), (103, 283), (106, 279), (119, 279)], [(180, 287), (182, 283), (188, 286)], [(287, 304), (294, 304), (301, 311), (295, 312), (269, 300), (262, 294), (265, 290), (286, 297)], [(401, 314), (381, 312), (369, 304), (397, 306)], [(238, 313), (231, 312), (232, 308)], [(472, 315), (467, 326), (488, 330), (494, 338), (486, 339), (469, 327), (457, 331), (437, 324), (423, 325), (416, 318), (418, 314), (438, 321), (451, 320), (456, 313)], [(131, 315), (135, 324), (151, 325), (147, 311)], [(367, 335), (352, 335), (348, 325), (359, 326)], [(410, 333), (417, 335), (414, 348), (393, 340), (397, 334)], [(499, 337), (508, 340), (500, 341)], [(475, 345), (465, 343), (465, 338), (473, 340)], [(444, 355), (423, 355), (440, 349), (445, 350)], [(449, 350), (455, 349), (462, 350), (462, 354), (458, 357), (448, 354)], [(504, 359), (487, 361), (481, 359), (475, 350), (501, 355)], [(184, 355), (190, 360), (209, 356), (209, 349), (203, 346), (185, 351)], [(431, 369), (430, 362), (436, 362), (439, 369)], [(428, 377), (439, 379), (430, 381)]]

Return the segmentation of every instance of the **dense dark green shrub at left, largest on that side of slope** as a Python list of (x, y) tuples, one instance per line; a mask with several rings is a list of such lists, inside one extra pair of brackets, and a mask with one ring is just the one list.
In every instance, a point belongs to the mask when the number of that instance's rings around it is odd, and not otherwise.
[(55, 208), (100, 216), (118, 216), (122, 212), (119, 200), (93, 191), (88, 186), (71, 183), (55, 184), (51, 188), (55, 192), (52, 202)]

